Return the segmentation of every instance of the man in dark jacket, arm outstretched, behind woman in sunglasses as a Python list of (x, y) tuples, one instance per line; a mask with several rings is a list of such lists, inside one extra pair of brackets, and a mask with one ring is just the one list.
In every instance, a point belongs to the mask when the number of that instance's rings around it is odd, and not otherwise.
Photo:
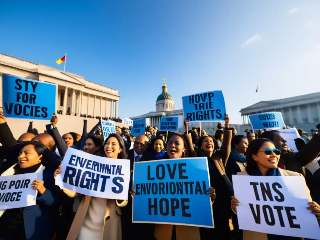
[[(275, 130), (269, 130), (259, 135), (259, 138), (271, 140), (277, 149), (287, 141), (281, 133)], [(293, 172), (299, 172), (305, 175), (304, 167), (311, 163), (320, 153), (320, 132), (318, 132), (299, 152), (287, 152), (281, 154), (279, 167)]]

